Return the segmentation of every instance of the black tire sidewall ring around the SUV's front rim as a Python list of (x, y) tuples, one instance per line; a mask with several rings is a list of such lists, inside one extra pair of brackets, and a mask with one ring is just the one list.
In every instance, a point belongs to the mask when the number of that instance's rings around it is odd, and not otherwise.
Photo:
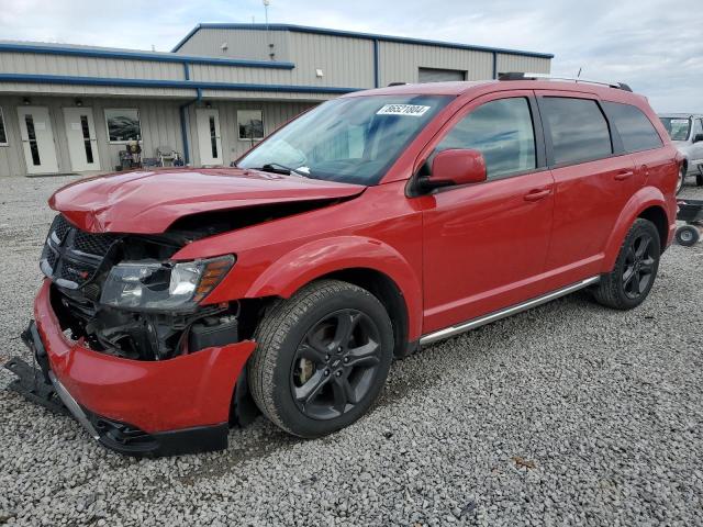
[[(376, 382), (364, 401), (357, 403), (347, 413), (328, 421), (313, 419), (301, 412), (291, 393), (291, 368), (298, 346), (308, 330), (319, 321), (335, 311), (354, 309), (371, 318), (379, 330), (381, 340), (381, 362), (378, 365)], [(319, 437), (350, 425), (361, 417), (380, 394), (393, 356), (393, 329), (386, 310), (370, 293), (345, 290), (334, 296), (327, 296), (315, 303), (291, 327), (277, 351), (274, 370), (274, 404), (282, 424), (291, 433), (301, 437)]]

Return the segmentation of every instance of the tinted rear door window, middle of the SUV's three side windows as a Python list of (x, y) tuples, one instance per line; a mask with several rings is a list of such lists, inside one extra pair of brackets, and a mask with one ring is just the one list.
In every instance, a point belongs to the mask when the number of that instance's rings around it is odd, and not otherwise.
[(613, 153), (607, 121), (595, 101), (546, 97), (540, 108), (556, 165), (599, 159)]

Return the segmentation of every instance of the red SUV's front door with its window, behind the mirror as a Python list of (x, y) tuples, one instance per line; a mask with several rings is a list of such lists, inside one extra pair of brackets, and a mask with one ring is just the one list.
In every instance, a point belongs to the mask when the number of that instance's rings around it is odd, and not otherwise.
[[(532, 91), (470, 102), (426, 153), (481, 152), (487, 181), (422, 198), (427, 334), (542, 294), (554, 180)], [(429, 156), (432, 161), (432, 156)]]

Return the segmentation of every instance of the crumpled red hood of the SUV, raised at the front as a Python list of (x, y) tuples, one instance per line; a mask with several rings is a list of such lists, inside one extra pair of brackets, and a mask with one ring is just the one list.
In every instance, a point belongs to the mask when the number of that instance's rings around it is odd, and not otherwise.
[(157, 234), (190, 214), (350, 198), (365, 188), (236, 168), (169, 169), (76, 181), (48, 204), (83, 231)]

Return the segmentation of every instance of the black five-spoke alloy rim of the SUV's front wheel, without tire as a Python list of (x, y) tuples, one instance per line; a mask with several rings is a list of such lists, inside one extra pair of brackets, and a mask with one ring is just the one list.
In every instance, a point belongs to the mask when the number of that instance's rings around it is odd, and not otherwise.
[(341, 310), (314, 324), (298, 346), (291, 390), (300, 411), (331, 419), (354, 408), (376, 383), (379, 329), (358, 310)]

